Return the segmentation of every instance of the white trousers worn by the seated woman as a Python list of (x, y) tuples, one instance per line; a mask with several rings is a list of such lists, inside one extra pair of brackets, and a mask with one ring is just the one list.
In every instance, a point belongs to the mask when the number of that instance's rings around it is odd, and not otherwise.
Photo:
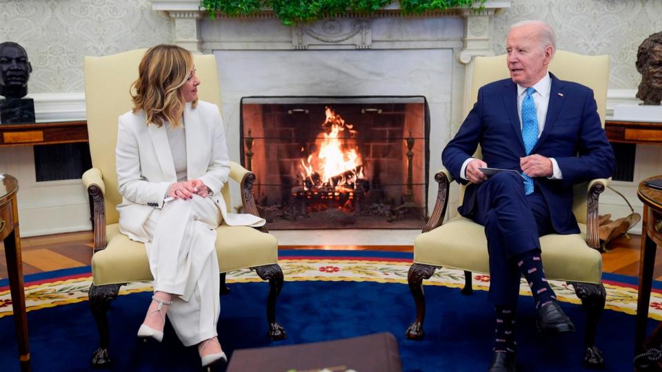
[(221, 211), (211, 198), (175, 199), (154, 209), (143, 229), (154, 291), (172, 293), (168, 318), (184, 346), (217, 335)]

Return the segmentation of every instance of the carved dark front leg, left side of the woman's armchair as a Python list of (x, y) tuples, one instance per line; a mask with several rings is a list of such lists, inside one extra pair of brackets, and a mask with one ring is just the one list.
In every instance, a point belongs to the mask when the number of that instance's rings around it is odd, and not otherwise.
[(97, 322), (97, 329), (99, 329), (99, 349), (92, 353), (92, 366), (94, 368), (108, 368), (110, 367), (110, 354), (108, 348), (110, 347), (110, 329), (108, 329), (108, 309), (110, 308), (110, 301), (117, 297), (119, 287), (122, 285), (101, 285), (99, 287), (94, 284), (90, 285), (88, 298), (90, 299), (90, 309), (92, 316)]

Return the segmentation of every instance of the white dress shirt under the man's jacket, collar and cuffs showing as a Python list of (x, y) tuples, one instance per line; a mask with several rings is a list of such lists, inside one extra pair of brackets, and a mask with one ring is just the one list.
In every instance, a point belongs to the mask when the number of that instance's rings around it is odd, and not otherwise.
[[(550, 78), (550, 73), (548, 72), (545, 74), (543, 79), (540, 79), (540, 81), (535, 83), (532, 87), (535, 90), (531, 96), (533, 98), (534, 104), (536, 105), (536, 116), (538, 116), (538, 138), (540, 138), (540, 135), (543, 133), (543, 129), (545, 129), (547, 109), (550, 105), (550, 92), (552, 90), (552, 79)], [(520, 130), (522, 129), (522, 102), (524, 101), (525, 96), (526, 87), (517, 84), (517, 116), (519, 117)], [(464, 161), (464, 163), (462, 163), (462, 167), (460, 168), (460, 176), (465, 180), (468, 180), (466, 174), (467, 165), (474, 159), (475, 158), (468, 158)], [(556, 163), (554, 158), (550, 158), (550, 161), (552, 161), (552, 176), (548, 178), (552, 180), (560, 180), (563, 178), (563, 174), (561, 173), (559, 164)]]

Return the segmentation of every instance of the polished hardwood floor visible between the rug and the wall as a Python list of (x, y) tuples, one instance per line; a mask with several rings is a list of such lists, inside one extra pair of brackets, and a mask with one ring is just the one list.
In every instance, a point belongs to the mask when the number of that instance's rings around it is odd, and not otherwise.
[[(81, 231), (68, 234), (34, 236), (21, 239), (23, 255), (23, 273), (41, 273), (70, 267), (90, 265), (92, 258), (92, 231)], [(602, 254), (603, 270), (608, 273), (619, 273), (629, 276), (639, 275), (639, 248), (641, 236), (621, 236), (608, 245), (607, 253)], [(412, 252), (410, 245), (281, 245), (279, 249), (338, 249), (338, 250), (372, 250)], [(0, 242), (0, 278), (7, 277), (5, 252)], [(662, 280), (662, 254), (656, 256), (654, 278)]]

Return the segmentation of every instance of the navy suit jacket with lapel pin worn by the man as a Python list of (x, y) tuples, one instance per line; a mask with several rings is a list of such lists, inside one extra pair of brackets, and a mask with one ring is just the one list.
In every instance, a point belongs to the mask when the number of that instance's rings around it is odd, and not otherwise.
[[(552, 86), (545, 128), (531, 154), (556, 159), (563, 179), (534, 178), (559, 234), (579, 232), (572, 214), (572, 185), (594, 178), (612, 176), (614, 152), (607, 141), (596, 111), (593, 91), (583, 85), (556, 79)], [(515, 169), (521, 172), (519, 158), (526, 156), (517, 112), (517, 85), (504, 79), (484, 85), (478, 101), (442, 154), (444, 167), (460, 183), (460, 169), (481, 145), (488, 167)], [(468, 185), (460, 214), (471, 218), (479, 185)]]

